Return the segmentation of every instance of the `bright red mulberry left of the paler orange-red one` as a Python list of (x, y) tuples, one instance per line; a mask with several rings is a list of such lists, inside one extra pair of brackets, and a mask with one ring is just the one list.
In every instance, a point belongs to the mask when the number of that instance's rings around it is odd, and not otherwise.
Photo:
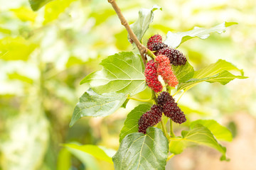
[(146, 69), (144, 73), (146, 77), (146, 84), (156, 93), (160, 92), (163, 89), (163, 86), (158, 79), (158, 74), (156, 72), (156, 63), (154, 62), (154, 60), (150, 60), (146, 63)]

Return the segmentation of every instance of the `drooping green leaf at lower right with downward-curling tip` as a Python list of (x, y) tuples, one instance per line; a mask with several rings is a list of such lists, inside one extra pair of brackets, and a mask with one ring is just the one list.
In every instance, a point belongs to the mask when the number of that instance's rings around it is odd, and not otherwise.
[[(226, 149), (225, 147), (221, 146), (217, 140), (215, 140), (215, 137), (213, 136), (212, 132), (208, 130), (208, 128), (204, 127), (203, 125), (197, 124), (191, 128), (191, 130), (183, 130), (181, 132), (182, 138), (176, 137), (176, 138), (171, 138), (171, 140), (176, 141), (177, 146), (182, 146), (184, 149), (186, 147), (189, 147), (190, 145), (206, 145), (208, 147), (212, 147), (213, 149), (218, 150), (221, 154), (222, 157), (220, 157), (220, 160), (226, 160), (225, 154), (226, 154)], [(183, 142), (182, 144), (178, 144), (178, 142)], [(174, 147), (172, 145), (171, 147)], [(170, 147), (170, 148), (171, 148)], [(172, 152), (174, 149), (171, 149)], [(182, 149), (180, 150), (181, 153)]]

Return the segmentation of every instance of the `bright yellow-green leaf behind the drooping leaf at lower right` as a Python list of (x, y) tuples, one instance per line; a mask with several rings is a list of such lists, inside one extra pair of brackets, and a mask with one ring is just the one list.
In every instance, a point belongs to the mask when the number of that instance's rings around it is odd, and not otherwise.
[(204, 127), (208, 128), (217, 140), (223, 140), (228, 142), (232, 141), (233, 137), (230, 130), (228, 130), (228, 128), (225, 128), (223, 125), (220, 125), (215, 120), (196, 120), (191, 123), (190, 127), (194, 128), (197, 124), (203, 125)]

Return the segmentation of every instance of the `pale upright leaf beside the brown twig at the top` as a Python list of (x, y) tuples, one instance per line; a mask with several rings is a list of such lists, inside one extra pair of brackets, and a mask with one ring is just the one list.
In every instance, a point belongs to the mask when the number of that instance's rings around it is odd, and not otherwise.
[(149, 29), (149, 24), (152, 23), (154, 18), (154, 11), (156, 9), (162, 10), (160, 6), (154, 5), (151, 9), (141, 8), (139, 10), (139, 18), (131, 25), (134, 34), (139, 40), (142, 40), (144, 33)]

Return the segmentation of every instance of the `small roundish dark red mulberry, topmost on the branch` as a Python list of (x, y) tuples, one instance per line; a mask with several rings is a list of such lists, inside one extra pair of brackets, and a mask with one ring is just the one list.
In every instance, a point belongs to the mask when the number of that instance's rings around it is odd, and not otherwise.
[(164, 47), (168, 47), (167, 45), (164, 44), (164, 42), (162, 42), (161, 35), (159, 35), (159, 34), (151, 36), (151, 38), (149, 38), (146, 46), (151, 51), (156, 51), (156, 50), (160, 50)]

